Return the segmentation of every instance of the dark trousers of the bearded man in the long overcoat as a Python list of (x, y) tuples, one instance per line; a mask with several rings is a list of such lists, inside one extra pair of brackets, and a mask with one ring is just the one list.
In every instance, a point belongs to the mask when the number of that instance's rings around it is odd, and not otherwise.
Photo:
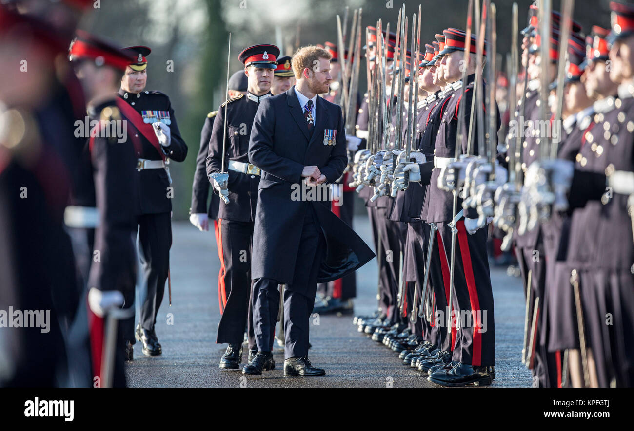
[[(312, 209), (306, 211), (295, 261), (294, 280), (284, 289), (284, 356), (300, 358), (308, 354), (310, 316), (317, 290), (317, 275), (325, 257), (325, 239)], [(272, 351), (275, 323), (280, 307), (280, 282), (257, 278), (253, 285), (253, 319), (257, 349)]]

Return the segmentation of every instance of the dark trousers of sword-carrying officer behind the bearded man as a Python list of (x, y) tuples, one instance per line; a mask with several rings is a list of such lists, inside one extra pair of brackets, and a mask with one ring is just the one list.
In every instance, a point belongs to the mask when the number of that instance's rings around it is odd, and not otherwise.
[[(254, 223), (225, 219), (221, 219), (219, 223), (226, 303), (218, 324), (216, 342), (242, 343), (252, 290), (251, 244)], [(249, 347), (255, 347), (251, 340)]]

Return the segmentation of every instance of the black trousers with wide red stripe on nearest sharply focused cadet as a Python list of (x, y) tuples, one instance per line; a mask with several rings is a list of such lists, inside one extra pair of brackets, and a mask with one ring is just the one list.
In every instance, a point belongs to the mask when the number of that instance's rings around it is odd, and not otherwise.
[[(469, 234), (464, 220), (456, 223), (456, 228), (458, 233), (456, 234), (453, 284), (456, 301), (454, 307), (458, 308), (455, 319), (459, 322), (452, 359), (473, 366), (494, 366), (495, 318), (491, 274), (486, 251), (488, 232), (486, 228), (481, 228), (474, 234)], [(443, 259), (446, 259), (448, 263), (451, 262), (452, 233), (449, 223), (438, 223), (438, 234), (437, 240), (440, 241), (438, 247), (434, 248), (439, 250), (443, 285), (448, 297), (450, 266), (444, 266)], [(444, 256), (441, 251), (444, 251)], [(436, 301), (438, 299), (439, 292), (436, 292)], [(440, 303), (437, 304), (437, 309), (443, 309)], [(444, 313), (441, 316), (444, 316), (446, 320), (446, 311)]]

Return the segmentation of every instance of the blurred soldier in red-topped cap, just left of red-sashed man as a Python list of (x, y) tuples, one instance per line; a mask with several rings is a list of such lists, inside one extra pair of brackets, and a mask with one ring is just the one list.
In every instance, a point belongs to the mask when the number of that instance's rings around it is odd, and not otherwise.
[[(141, 151), (141, 141), (134, 136), (129, 118), (122, 113), (123, 101), (116, 96), (117, 87), (126, 68), (134, 61), (129, 51), (100, 41), (86, 32), (77, 31), (68, 58), (82, 81), (91, 120), (100, 121), (96, 133), (91, 132), (79, 169), (82, 187), (75, 191), (76, 200), (84, 212), (96, 209), (94, 250), (100, 259), (93, 259), (89, 270), (87, 303), (91, 349), (93, 352), (93, 375), (102, 375), (103, 362), (108, 354), (105, 345), (105, 317), (111, 308), (122, 307), (131, 311), (131, 318), (117, 328), (117, 344), (113, 382), (116, 387), (125, 387), (124, 358), (132, 356), (134, 285), (136, 282), (136, 253), (133, 243), (136, 230), (136, 182), (134, 167), (136, 154)], [(103, 122), (116, 122), (129, 127), (121, 142), (119, 135), (107, 137), (101, 127)], [(111, 124), (116, 124), (111, 123)], [(74, 211), (75, 215), (77, 211)], [(68, 221), (68, 213), (65, 216)], [(91, 253), (93, 254), (93, 253)], [(100, 385), (110, 382), (100, 382)]]

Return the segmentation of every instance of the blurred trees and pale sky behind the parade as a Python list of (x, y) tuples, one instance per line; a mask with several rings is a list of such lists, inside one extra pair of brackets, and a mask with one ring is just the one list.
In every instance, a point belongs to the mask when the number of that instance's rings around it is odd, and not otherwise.
[[(346, 6), (363, 8), (363, 25), (391, 24), (401, 4), (410, 17), (422, 4), (421, 41), (434, 40), (444, 28), (464, 28), (468, 0), (127, 0), (100, 2), (84, 18), (81, 28), (107, 37), (120, 46), (147, 45), (148, 90), (169, 95), (189, 153), (183, 163), (172, 163), (174, 220), (186, 219), (200, 130), (209, 111), (224, 101), (228, 32), (231, 32), (231, 73), (242, 68), (238, 54), (247, 46), (271, 43), (291, 55), (299, 46), (336, 42), (336, 15)], [(512, 1), (497, 6), (498, 53), (510, 50)], [(519, 28), (526, 27), (531, 0), (517, 0)], [(609, 27), (609, 0), (577, 0), (574, 19), (590, 33), (592, 25)], [(559, 10), (560, 1), (553, 0)], [(349, 16), (349, 23), (352, 15)], [(411, 27), (410, 27), (411, 28)], [(363, 41), (365, 44), (365, 41)], [(173, 64), (170, 68), (169, 65)], [(362, 66), (363, 68), (363, 66)], [(365, 89), (362, 70), (359, 89)]]

